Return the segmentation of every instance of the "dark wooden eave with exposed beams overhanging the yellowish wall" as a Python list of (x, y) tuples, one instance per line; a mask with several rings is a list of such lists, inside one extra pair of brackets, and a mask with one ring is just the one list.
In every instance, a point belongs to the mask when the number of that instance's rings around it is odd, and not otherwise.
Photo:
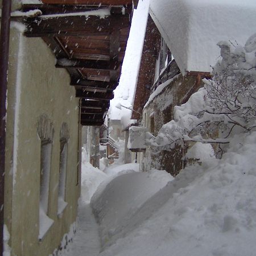
[[(135, 1), (136, 2), (136, 1)], [(44, 0), (23, 5), (42, 15), (23, 20), (28, 38), (40, 37), (65, 68), (76, 97), (81, 98), (81, 124), (101, 125), (114, 97), (129, 37), (132, 0)], [(85, 13), (101, 11), (100, 15)]]

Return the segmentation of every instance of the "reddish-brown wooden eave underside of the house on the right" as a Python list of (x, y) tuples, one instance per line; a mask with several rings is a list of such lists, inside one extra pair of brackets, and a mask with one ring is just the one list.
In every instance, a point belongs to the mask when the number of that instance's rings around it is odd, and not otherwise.
[(154, 83), (155, 61), (158, 57), (161, 35), (155, 26), (151, 16), (148, 15), (146, 34), (142, 49), (141, 65), (135, 89), (133, 109), (131, 119), (139, 119), (144, 105), (150, 97), (150, 88)]

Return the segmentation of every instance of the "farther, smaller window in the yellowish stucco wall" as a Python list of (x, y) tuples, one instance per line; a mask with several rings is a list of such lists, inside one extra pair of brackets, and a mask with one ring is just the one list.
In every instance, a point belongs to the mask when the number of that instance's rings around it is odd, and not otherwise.
[(65, 201), (67, 163), (68, 163), (68, 140), (69, 131), (67, 123), (63, 123), (60, 130), (60, 173), (59, 173), (59, 195), (58, 195), (58, 214), (63, 212), (67, 206)]

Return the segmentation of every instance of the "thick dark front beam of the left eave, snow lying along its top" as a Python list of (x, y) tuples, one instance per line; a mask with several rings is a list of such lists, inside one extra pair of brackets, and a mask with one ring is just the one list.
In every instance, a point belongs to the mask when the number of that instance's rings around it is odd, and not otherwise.
[(111, 33), (124, 27), (130, 27), (129, 15), (110, 15), (104, 19), (99, 16), (55, 16), (51, 18), (29, 18), (26, 20), (28, 37), (49, 35), (69, 35), (69, 32), (83, 34), (105, 32)]

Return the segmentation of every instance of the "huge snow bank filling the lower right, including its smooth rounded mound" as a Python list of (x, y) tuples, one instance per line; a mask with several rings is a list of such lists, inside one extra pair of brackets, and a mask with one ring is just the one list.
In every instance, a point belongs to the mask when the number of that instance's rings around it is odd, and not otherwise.
[(162, 179), (154, 183), (151, 174), (117, 177), (92, 201), (102, 242), (112, 244), (100, 255), (255, 255), (255, 154), (254, 132), (158, 192)]

